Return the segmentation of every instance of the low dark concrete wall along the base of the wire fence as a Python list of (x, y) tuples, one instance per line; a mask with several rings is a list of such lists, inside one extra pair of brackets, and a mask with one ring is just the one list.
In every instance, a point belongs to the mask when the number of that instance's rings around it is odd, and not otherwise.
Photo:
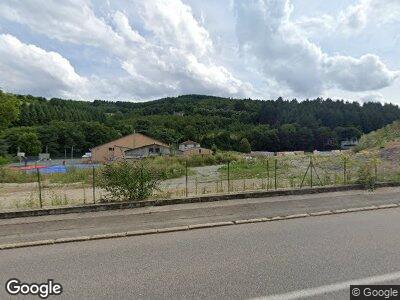
[[(377, 188), (382, 187), (396, 187), (400, 186), (400, 182), (380, 182), (376, 184)], [(264, 197), (275, 197), (275, 196), (289, 196), (289, 195), (306, 195), (306, 194), (319, 194), (329, 192), (341, 192), (351, 190), (362, 190), (362, 185), (352, 184), (343, 186), (322, 186), (314, 188), (302, 188), (302, 189), (278, 189), (269, 191), (251, 191), (251, 192), (240, 192), (230, 193), (222, 195), (207, 195), (207, 196), (196, 196), (188, 198), (175, 198), (175, 199), (160, 199), (160, 200), (145, 200), (138, 202), (114, 202), (114, 203), (98, 203), (98, 204), (85, 204), (85, 205), (74, 205), (64, 206), (55, 208), (43, 208), (43, 209), (26, 209), (26, 210), (15, 210), (15, 211), (4, 211), (0, 212), (0, 219), (12, 219), (22, 217), (35, 217), (35, 216), (47, 216), (47, 215), (60, 215), (70, 213), (84, 213), (84, 212), (95, 212), (95, 211), (106, 211), (106, 210), (118, 210), (118, 209), (130, 209), (148, 206), (164, 206), (172, 204), (187, 204), (187, 203), (199, 203), (199, 202), (213, 202), (222, 200), (235, 200), (245, 198), (264, 198)]]

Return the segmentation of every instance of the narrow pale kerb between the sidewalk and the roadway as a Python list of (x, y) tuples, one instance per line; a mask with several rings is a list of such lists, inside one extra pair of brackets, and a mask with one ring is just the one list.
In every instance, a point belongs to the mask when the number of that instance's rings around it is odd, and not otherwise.
[(326, 216), (326, 215), (333, 215), (333, 214), (362, 212), (362, 211), (388, 209), (388, 208), (396, 208), (396, 207), (400, 207), (400, 204), (391, 203), (391, 204), (383, 204), (383, 205), (377, 205), (377, 206), (372, 205), (372, 206), (365, 206), (365, 207), (352, 207), (352, 208), (340, 209), (340, 210), (334, 210), (334, 211), (326, 210), (326, 211), (312, 212), (312, 213), (299, 213), (299, 214), (293, 214), (293, 215), (288, 215), (288, 216), (276, 216), (276, 217), (272, 217), (272, 218), (268, 217), (268, 218), (243, 219), (243, 220), (235, 220), (235, 221), (192, 224), (192, 225), (158, 228), (158, 229), (144, 229), (144, 230), (135, 230), (135, 231), (128, 231), (128, 232), (96, 234), (96, 235), (92, 235), (92, 236), (79, 236), (79, 237), (40, 240), (40, 241), (32, 241), (32, 242), (11, 243), (11, 244), (0, 245), (0, 250), (34, 247), (34, 246), (44, 246), (44, 245), (54, 245), (54, 244), (61, 244), (61, 243), (83, 242), (83, 241), (100, 240), (100, 239), (112, 239), (112, 238), (149, 235), (149, 234), (158, 234), (158, 233), (167, 233), (167, 232), (177, 232), (177, 231), (204, 229), (204, 228), (214, 228), (214, 227), (221, 227), (221, 226), (252, 224), (252, 223), (258, 223), (258, 222), (273, 222), (273, 221), (280, 221), (280, 220), (290, 220), (290, 219), (297, 219), (297, 218), (307, 218), (307, 217)]

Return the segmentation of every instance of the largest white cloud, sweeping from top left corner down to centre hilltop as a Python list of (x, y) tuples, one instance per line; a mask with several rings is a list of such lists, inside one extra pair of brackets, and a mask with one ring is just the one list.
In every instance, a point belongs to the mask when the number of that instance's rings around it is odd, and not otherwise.
[(132, 28), (128, 15), (119, 10), (111, 14), (112, 24), (108, 24), (95, 15), (86, 0), (27, 0), (20, 4), (6, 0), (0, 5), (0, 15), (52, 39), (111, 53), (127, 73), (118, 83), (103, 80), (105, 89), (107, 82), (109, 90), (118, 84), (132, 91), (132, 97), (144, 99), (194, 91), (249, 95), (251, 85), (216, 62), (213, 42), (188, 5), (180, 0), (131, 5), (145, 35)]

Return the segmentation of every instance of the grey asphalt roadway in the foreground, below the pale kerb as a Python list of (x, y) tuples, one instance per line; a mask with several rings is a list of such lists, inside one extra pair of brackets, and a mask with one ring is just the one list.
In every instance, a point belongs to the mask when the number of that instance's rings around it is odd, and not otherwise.
[[(354, 279), (400, 283), (399, 232), (394, 208), (21, 248), (0, 252), (0, 286), (53, 278), (54, 299), (349, 299)], [(29, 297), (0, 288), (0, 299)]]

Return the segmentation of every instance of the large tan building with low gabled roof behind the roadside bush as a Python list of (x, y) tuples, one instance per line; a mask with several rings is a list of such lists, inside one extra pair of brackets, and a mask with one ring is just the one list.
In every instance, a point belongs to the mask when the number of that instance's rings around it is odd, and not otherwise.
[(133, 133), (92, 148), (91, 159), (93, 162), (108, 162), (132, 156), (145, 157), (146, 153), (149, 154), (151, 151), (160, 155), (169, 154), (169, 146), (141, 133)]

